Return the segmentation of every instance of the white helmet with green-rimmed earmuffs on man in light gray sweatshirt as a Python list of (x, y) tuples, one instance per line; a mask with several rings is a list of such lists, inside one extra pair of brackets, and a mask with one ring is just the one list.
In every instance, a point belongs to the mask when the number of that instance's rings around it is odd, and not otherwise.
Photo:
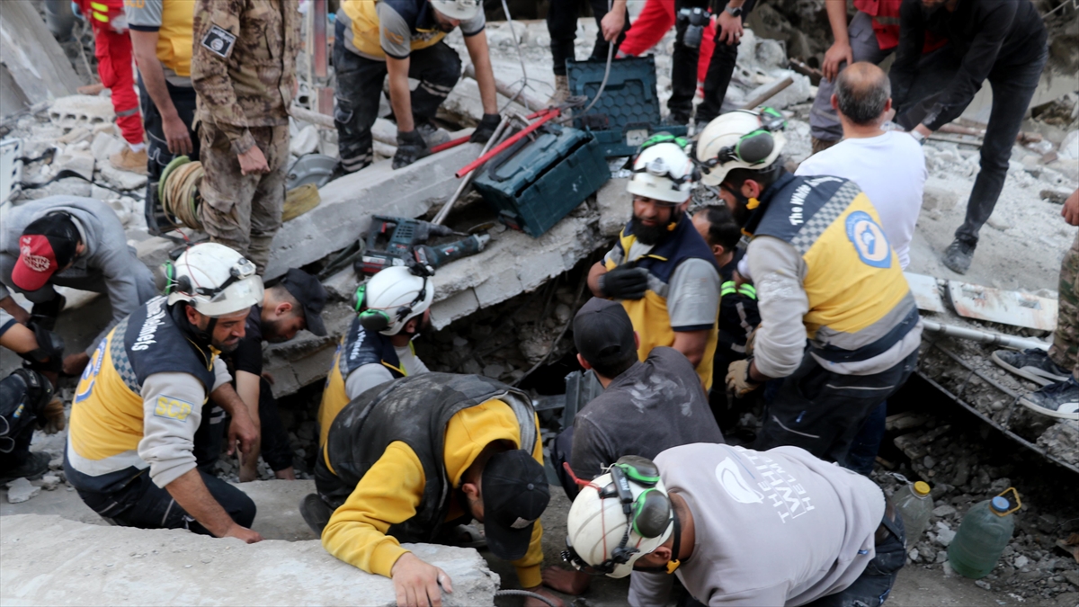
[(667, 541), (674, 515), (655, 464), (625, 456), (581, 488), (565, 527), (563, 559), (577, 569), (625, 578), (638, 558)]

